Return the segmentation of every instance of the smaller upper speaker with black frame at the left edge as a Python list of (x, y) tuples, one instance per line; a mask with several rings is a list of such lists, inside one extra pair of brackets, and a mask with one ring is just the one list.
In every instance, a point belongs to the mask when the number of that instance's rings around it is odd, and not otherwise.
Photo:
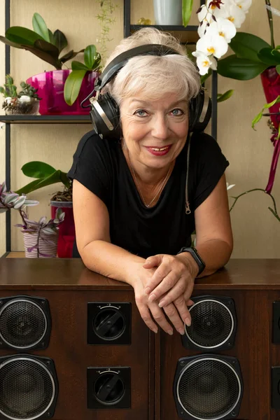
[(50, 341), (48, 300), (18, 295), (0, 299), (0, 349), (45, 349)]

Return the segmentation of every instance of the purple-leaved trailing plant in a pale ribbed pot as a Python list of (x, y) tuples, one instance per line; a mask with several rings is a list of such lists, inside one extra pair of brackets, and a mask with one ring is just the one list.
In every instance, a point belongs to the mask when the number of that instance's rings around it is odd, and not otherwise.
[(64, 213), (57, 209), (55, 218), (47, 221), (45, 216), (38, 222), (30, 221), (25, 207), (35, 206), (37, 201), (27, 200), (26, 195), (19, 195), (6, 190), (6, 184), (0, 184), (0, 213), (8, 209), (16, 209), (22, 218), (22, 224), (15, 226), (22, 228), (27, 258), (55, 258), (57, 255), (58, 226), (64, 220)]

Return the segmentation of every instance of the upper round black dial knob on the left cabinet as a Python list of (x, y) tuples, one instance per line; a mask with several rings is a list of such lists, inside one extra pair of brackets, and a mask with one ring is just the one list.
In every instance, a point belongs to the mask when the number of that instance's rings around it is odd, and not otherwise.
[(94, 317), (93, 329), (102, 339), (116, 339), (125, 330), (125, 318), (117, 308), (103, 308)]

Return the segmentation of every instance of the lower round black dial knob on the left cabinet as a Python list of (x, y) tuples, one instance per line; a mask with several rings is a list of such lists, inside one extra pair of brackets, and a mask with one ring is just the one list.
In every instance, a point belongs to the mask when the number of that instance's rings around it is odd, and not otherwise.
[(123, 398), (125, 385), (116, 372), (106, 372), (95, 381), (94, 395), (105, 405), (116, 404)]

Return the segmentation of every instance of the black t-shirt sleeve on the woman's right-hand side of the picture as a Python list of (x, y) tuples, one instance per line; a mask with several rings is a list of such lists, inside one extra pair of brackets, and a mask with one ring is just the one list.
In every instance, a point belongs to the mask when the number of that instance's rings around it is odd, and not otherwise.
[(211, 194), (228, 165), (228, 160), (213, 137), (205, 133), (193, 135), (190, 143), (190, 166), (193, 166), (194, 210)]

